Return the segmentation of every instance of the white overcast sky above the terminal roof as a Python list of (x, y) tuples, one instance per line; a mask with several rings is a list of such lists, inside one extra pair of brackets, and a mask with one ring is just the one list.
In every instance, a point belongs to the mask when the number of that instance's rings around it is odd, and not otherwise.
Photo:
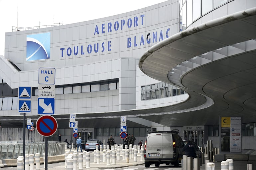
[(126, 13), (164, 1), (166, 0), (0, 0), (0, 55), (4, 56), (5, 32), (12, 32), (12, 27), (54, 25), (54, 22), (77, 23)]

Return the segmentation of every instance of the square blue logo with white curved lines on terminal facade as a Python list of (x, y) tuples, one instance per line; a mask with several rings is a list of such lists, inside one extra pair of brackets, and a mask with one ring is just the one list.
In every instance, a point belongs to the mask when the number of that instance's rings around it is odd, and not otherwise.
[(27, 35), (27, 61), (50, 58), (51, 32)]

